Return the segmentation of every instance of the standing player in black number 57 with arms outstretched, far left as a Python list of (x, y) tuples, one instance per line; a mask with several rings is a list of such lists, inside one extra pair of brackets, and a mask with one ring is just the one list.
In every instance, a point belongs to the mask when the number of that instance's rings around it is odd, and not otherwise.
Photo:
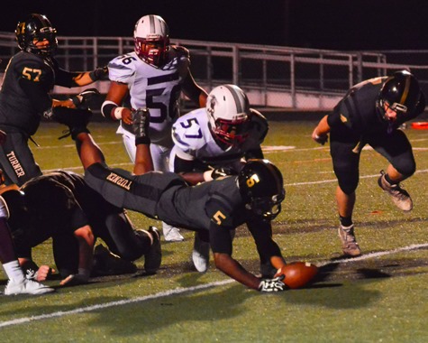
[[(50, 97), (50, 90), (54, 85), (68, 88), (88, 85), (103, 78), (106, 71), (60, 69), (53, 57), (58, 46), (57, 30), (45, 15), (30, 14), (17, 24), (15, 34), (21, 51), (9, 60), (0, 91), (0, 129), (7, 134), (5, 144), (0, 147), (0, 164), (6, 184), (21, 186), (41, 175), (28, 146), (41, 117), (60, 121), (68, 115), (66, 107), (79, 106), (91, 94), (89, 91), (86, 95), (59, 101)], [(64, 110), (57, 113), (57, 107)]]

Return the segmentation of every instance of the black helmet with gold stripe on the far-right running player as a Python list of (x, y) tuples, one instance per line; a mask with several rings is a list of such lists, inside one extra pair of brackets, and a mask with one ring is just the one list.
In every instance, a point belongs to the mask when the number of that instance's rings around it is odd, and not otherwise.
[(397, 117), (405, 116), (418, 106), (421, 95), (419, 82), (410, 72), (396, 71), (380, 89), (378, 110), (384, 119), (387, 119), (385, 107), (396, 111)]

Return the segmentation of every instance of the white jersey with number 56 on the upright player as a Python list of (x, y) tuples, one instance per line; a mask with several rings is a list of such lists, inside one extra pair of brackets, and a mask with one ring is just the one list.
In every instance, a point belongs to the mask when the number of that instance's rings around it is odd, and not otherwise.
[[(132, 51), (116, 57), (108, 64), (109, 79), (126, 83), (132, 108), (149, 108), (150, 139), (153, 144), (171, 145), (170, 129), (178, 117), (180, 83), (189, 65), (185, 50), (171, 47), (169, 61), (161, 68), (153, 67)], [(132, 133), (132, 126), (123, 125)]]

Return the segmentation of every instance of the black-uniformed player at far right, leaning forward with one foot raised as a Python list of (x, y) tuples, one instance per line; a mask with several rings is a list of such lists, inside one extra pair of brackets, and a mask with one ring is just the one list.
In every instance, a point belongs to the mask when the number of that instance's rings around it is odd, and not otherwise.
[(360, 154), (365, 144), (387, 158), (387, 172), (380, 172), (378, 185), (398, 209), (413, 209), (409, 193), (400, 182), (416, 169), (412, 145), (400, 125), (420, 115), (425, 97), (417, 79), (405, 70), (390, 77), (368, 79), (352, 87), (332, 113), (315, 127), (312, 138), (325, 144), (330, 133), (333, 170), (339, 181), (336, 189), (344, 255), (358, 256), (360, 246), (354, 234), (352, 212), (359, 182)]

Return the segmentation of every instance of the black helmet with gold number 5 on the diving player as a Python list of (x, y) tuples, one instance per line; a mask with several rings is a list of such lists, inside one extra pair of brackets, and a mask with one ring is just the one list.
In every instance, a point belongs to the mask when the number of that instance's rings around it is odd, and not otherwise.
[(246, 209), (266, 220), (276, 218), (286, 198), (282, 174), (268, 160), (249, 160), (238, 175)]

